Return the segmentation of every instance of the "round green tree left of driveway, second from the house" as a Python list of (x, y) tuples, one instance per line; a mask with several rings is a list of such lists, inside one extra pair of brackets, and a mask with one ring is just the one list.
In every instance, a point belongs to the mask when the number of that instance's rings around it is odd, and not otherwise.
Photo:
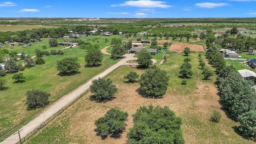
[(96, 66), (102, 62), (103, 56), (99, 49), (93, 48), (86, 53), (84, 60), (89, 66)]

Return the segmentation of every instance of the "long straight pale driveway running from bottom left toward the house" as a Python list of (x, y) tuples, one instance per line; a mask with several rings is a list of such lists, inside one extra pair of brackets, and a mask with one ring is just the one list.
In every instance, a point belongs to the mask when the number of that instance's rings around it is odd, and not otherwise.
[[(96, 75), (90, 81), (88, 81), (84, 85), (78, 87), (76, 90), (72, 91), (68, 95), (63, 96), (62, 99), (60, 99), (59, 101), (54, 103), (52, 106), (48, 107), (44, 112), (42, 112), (42, 114), (40, 114), (34, 120), (32, 120), (31, 122), (29, 122), (28, 124), (23, 126), (21, 128), (23, 130), (20, 132), (21, 138), (24, 138), (27, 134), (32, 132), (35, 128), (40, 126), (40, 124), (45, 122), (48, 118), (53, 116), (56, 112), (58, 112), (63, 107), (65, 107), (66, 105), (68, 105), (69, 103), (74, 101), (74, 99), (76, 99), (78, 96), (80, 96), (82, 93), (84, 93), (84, 91), (89, 89), (89, 87), (92, 83), (92, 80), (98, 79), (98, 77), (106, 76), (108, 73), (110, 73), (114, 69), (118, 68), (120, 65), (127, 65), (126, 61), (133, 60), (134, 59), (133, 56), (134, 56), (134, 54), (124, 55), (125, 58), (121, 59), (118, 63), (116, 63), (112, 67), (106, 69), (99, 75)], [(8, 137), (6, 140), (1, 142), (0, 144), (16, 144), (17, 142), (19, 142), (19, 137), (18, 137), (18, 134), (15, 134), (15, 135), (11, 135), (10, 137)]]

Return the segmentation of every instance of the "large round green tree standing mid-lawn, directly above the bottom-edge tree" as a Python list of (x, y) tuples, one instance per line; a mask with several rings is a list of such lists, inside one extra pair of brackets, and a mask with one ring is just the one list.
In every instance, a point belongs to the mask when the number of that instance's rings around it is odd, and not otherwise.
[(149, 97), (160, 97), (166, 93), (169, 77), (166, 71), (154, 66), (140, 76), (140, 90)]

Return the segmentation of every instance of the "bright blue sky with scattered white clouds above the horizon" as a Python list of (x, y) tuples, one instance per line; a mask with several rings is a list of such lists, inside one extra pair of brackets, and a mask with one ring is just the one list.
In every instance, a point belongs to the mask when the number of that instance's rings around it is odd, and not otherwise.
[(0, 0), (0, 17), (256, 17), (256, 0)]

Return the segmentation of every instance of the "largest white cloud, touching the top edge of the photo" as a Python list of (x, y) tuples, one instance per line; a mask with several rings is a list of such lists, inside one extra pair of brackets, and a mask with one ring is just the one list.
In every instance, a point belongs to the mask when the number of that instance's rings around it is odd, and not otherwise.
[(130, 0), (126, 1), (122, 4), (112, 4), (112, 7), (116, 6), (133, 6), (139, 8), (170, 8), (171, 5), (165, 4), (163, 1), (154, 1), (154, 0)]

